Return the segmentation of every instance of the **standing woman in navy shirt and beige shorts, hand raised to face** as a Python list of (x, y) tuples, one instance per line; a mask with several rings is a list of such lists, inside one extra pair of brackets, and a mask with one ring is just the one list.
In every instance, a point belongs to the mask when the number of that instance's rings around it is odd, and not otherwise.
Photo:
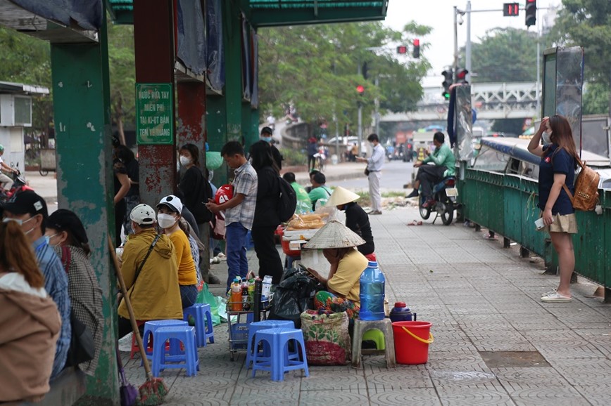
[[(543, 146), (541, 139), (543, 138)], [(538, 195), (541, 217), (550, 233), (553, 247), (558, 254), (560, 284), (558, 289), (541, 296), (544, 302), (571, 301), (571, 275), (575, 267), (573, 234), (577, 234), (577, 221), (571, 199), (563, 185), (574, 193), (577, 150), (571, 125), (558, 114), (543, 117), (541, 126), (528, 145), (531, 154), (541, 157), (539, 163)]]

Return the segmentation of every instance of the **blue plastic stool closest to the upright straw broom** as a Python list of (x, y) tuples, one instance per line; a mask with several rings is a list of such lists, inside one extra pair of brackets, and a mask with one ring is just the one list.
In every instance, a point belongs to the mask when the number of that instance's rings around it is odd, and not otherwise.
[[(184, 346), (184, 354), (165, 356), (165, 341), (179, 340)], [(168, 362), (184, 362), (179, 364)], [(191, 326), (159, 327), (153, 332), (153, 376), (166, 368), (186, 368), (187, 376), (194, 376), (199, 371), (199, 357), (195, 345), (195, 328)]]

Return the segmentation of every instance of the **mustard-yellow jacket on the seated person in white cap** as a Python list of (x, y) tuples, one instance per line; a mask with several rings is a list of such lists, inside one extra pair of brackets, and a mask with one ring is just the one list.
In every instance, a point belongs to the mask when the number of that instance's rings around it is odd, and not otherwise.
[[(132, 301), (136, 320), (182, 320), (178, 267), (170, 237), (160, 235), (134, 283), (136, 271), (156, 235), (153, 229), (144, 230), (125, 243), (121, 273), (127, 294)], [(130, 317), (125, 299), (121, 299), (118, 313), (121, 317)]]

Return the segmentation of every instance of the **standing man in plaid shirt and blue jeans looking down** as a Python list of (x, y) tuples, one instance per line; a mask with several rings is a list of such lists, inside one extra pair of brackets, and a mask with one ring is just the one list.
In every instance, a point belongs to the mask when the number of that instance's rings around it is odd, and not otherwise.
[(257, 172), (244, 157), (244, 148), (237, 141), (229, 141), (220, 151), (229, 168), (234, 169), (233, 196), (216, 204), (208, 199), (206, 207), (213, 213), (225, 210), (225, 241), (227, 245), (227, 290), (235, 277), (246, 277), (246, 234), (253, 228), (257, 204)]

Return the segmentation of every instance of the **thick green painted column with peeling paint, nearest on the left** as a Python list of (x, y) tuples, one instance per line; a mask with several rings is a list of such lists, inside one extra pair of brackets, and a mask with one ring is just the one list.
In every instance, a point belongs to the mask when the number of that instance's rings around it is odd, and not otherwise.
[(51, 44), (58, 206), (80, 217), (103, 293), (103, 342), (87, 399), (118, 405), (116, 278), (107, 237), (114, 230), (113, 166), (106, 22), (99, 44)]

